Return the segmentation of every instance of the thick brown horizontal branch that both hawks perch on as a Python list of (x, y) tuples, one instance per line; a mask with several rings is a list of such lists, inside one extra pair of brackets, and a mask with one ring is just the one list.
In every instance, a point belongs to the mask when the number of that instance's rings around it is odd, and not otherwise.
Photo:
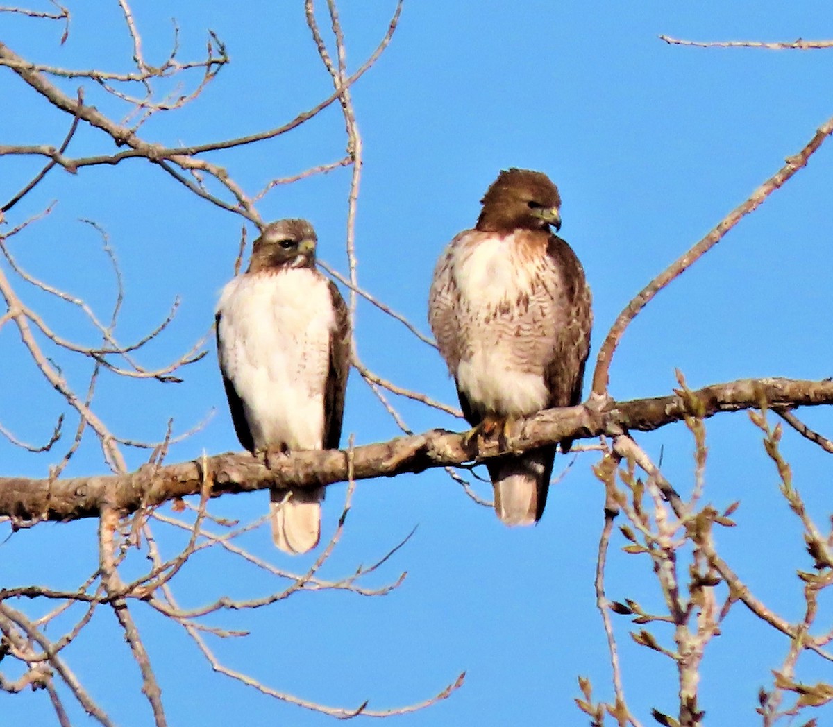
[[(541, 411), (512, 427), (506, 445), (526, 451), (567, 437), (617, 436), (625, 431), (652, 431), (686, 416), (706, 418), (721, 411), (768, 406), (833, 404), (833, 381), (742, 379), (706, 386), (673, 396), (615, 402), (603, 411), (589, 406)], [(462, 465), (501, 454), (498, 442), (471, 441), (460, 434), (431, 430), (416, 436), (356, 447), (353, 475), (357, 480), (421, 472), (432, 467)], [(206, 471), (203, 472), (202, 468)], [(347, 481), (344, 451), (298, 451), (273, 471), (247, 453), (227, 453), (167, 467), (144, 466), (121, 476), (59, 480), (0, 477), (0, 516), (18, 523), (97, 517), (102, 504), (123, 512), (198, 495), (202, 483), (212, 497), (251, 492), (272, 486), (317, 486)]]

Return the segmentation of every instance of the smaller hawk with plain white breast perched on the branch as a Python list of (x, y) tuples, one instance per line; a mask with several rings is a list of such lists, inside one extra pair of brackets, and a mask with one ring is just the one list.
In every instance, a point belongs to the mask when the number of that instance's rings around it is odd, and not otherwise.
[[(247, 271), (222, 289), (217, 354), (237, 438), (267, 458), (337, 449), (350, 371), (350, 320), (315, 266), (306, 220), (280, 220), (254, 242)], [(305, 553), (321, 537), (324, 489), (271, 490), (272, 540)]]

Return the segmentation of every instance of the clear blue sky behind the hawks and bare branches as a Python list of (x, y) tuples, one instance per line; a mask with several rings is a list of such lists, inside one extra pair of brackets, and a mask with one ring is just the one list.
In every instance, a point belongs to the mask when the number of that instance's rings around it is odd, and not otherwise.
[[(0, 40), (23, 57), (62, 67), (127, 70), (132, 49), (116, 2), (76, 3), (69, 39), (43, 21), (0, 15)], [(393, 2), (342, 2), (348, 64), (356, 68), (387, 28)], [(319, 8), (327, 28), (324, 7)], [(179, 112), (157, 115), (142, 128), (166, 145), (202, 143), (276, 127), (332, 92), (304, 22), (302, 2), (167, 2), (164, 10), (133, 8), (152, 62), (162, 62), (172, 37), (181, 57), (198, 57), (205, 30), (226, 42), (232, 63), (202, 96)], [(380, 61), (353, 88), (365, 167), (357, 212), (359, 281), (365, 289), (426, 331), (426, 295), (436, 257), (456, 232), (470, 227), (478, 200), (505, 167), (546, 172), (563, 199), (561, 235), (583, 262), (594, 293), (594, 348), (621, 308), (669, 262), (706, 234), (825, 122), (833, 77), (827, 53), (672, 47), (665, 33), (694, 40), (793, 40), (833, 37), (826, 2), (450, 2), (407, 0), (397, 33)], [(78, 82), (59, 84), (74, 95)], [(0, 73), (0, 143), (60, 142), (68, 119)], [(116, 115), (123, 107), (87, 84), (87, 100)], [(332, 162), (344, 154), (336, 106), (295, 132), (255, 147), (215, 152), (247, 192), (270, 179)], [(830, 144), (830, 142), (828, 142)], [(69, 153), (113, 152), (107, 137), (82, 128)], [(2, 201), (37, 171), (42, 160), (3, 157)], [(744, 219), (696, 266), (675, 281), (631, 325), (611, 368), (617, 398), (661, 396), (676, 386), (675, 369), (692, 387), (751, 376), (821, 379), (831, 368), (828, 295), (833, 284), (829, 213), (833, 151), (822, 147), (791, 182)], [(317, 228), (319, 254), (340, 270), (350, 172), (337, 170), (270, 193), (258, 206), (265, 219), (307, 217)], [(14, 226), (51, 200), (53, 212), (17, 237), (12, 251), (27, 269), (83, 296), (102, 317), (114, 286), (94, 220), (110, 236), (122, 266), (125, 304), (117, 333), (142, 336), (176, 296), (177, 318), (142, 357), (148, 366), (179, 356), (212, 322), (217, 293), (232, 275), (242, 218), (197, 199), (141, 160), (53, 170), (7, 216)], [(249, 239), (252, 239), (249, 228)], [(22, 284), (19, 284), (25, 290)], [(77, 311), (25, 291), (66, 336), (97, 341)], [(358, 352), (367, 366), (398, 385), (455, 403), (436, 351), (396, 321), (360, 303)], [(0, 330), (0, 423), (27, 441), (42, 441), (65, 404), (23, 355), (11, 326)], [(58, 356), (56, 352), (56, 356)], [(84, 386), (87, 367), (61, 360), (67, 377)], [(214, 411), (202, 431), (172, 447), (169, 461), (237, 450), (217, 373), (213, 345), (182, 372), (185, 381), (124, 381), (103, 376), (97, 412), (121, 436), (161, 439), (167, 418), (186, 431)], [(22, 396), (25, 392), (25, 396)], [(455, 421), (396, 399), (414, 431)], [(827, 411), (802, 414), (833, 431)], [(75, 421), (67, 412), (67, 435)], [(399, 430), (354, 372), (345, 431), (357, 444), (386, 440)], [(809, 569), (801, 530), (777, 493), (776, 473), (759, 433), (745, 414), (707, 425), (706, 499), (717, 507), (741, 500), (738, 527), (718, 533), (726, 560), (775, 610), (796, 619), (801, 581)], [(638, 440), (662, 456), (679, 490), (691, 486), (691, 437), (669, 426)], [(0, 441), (3, 474), (46, 476), (56, 456), (32, 456)], [(822, 527), (830, 513), (830, 456), (792, 432), (784, 452)], [(60, 455), (57, 455), (60, 456)], [(145, 452), (128, 461), (139, 466)], [(567, 458), (556, 461), (556, 472)], [(578, 457), (551, 490), (541, 523), (507, 530), (474, 504), (441, 471), (359, 483), (336, 555), (335, 577), (369, 563), (418, 525), (415, 535), (370, 585), (396, 580), (391, 595), (301, 593), (252, 614), (214, 616), (212, 624), (246, 628), (246, 639), (217, 644), (233, 668), (304, 699), (377, 709), (411, 704), (441, 690), (462, 670), (466, 685), (451, 699), (402, 725), (579, 725), (573, 698), (577, 675), (591, 677), (596, 696), (612, 699), (605, 635), (595, 607), (593, 572), (603, 496), (591, 466)], [(105, 471), (100, 449), (86, 441), (70, 475)], [(480, 486), (483, 495), (490, 488)], [(332, 531), (345, 488), (330, 488), (325, 531)], [(226, 497), (218, 514), (242, 520), (266, 510), (267, 495)], [(2, 544), (0, 582), (74, 587), (96, 559), (95, 523), (39, 525)], [(177, 538), (160, 529), (174, 552)], [(257, 554), (287, 568), (265, 529), (247, 535)], [(608, 595), (633, 598), (647, 609), (661, 596), (644, 559), (616, 550)], [(137, 568), (141, 567), (137, 557)], [(194, 559), (181, 574), (187, 605), (224, 593), (262, 595), (278, 586), (239, 560)], [(175, 590), (177, 583), (175, 582)], [(829, 625), (830, 599), (822, 600)], [(31, 606), (37, 610), (37, 605)], [(212, 673), (181, 630), (136, 609), (162, 683), (173, 725), (224, 725), (245, 715), (248, 725), (323, 725), (330, 718), (281, 705)], [(671, 662), (632, 644), (629, 622), (614, 617), (626, 697), (643, 724), (650, 710), (673, 712), (676, 671)], [(671, 642), (670, 631), (656, 630)], [(758, 724), (756, 695), (771, 683), (786, 640), (742, 609), (729, 616), (707, 652), (702, 706), (711, 724)], [(108, 614), (67, 650), (67, 660), (120, 725), (150, 724), (137, 670)], [(798, 675), (831, 680), (830, 665), (805, 655)], [(0, 698), (10, 723), (51, 719), (38, 695)], [(831, 719), (828, 708), (820, 721)], [(807, 715), (806, 719), (809, 719)], [(85, 724), (80, 710), (73, 713)], [(76, 724), (73, 721), (73, 724)]]

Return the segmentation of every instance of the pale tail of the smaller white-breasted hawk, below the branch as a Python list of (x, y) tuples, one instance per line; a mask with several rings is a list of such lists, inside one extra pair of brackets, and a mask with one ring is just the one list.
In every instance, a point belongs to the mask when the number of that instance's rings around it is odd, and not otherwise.
[(321, 539), (321, 501), (324, 488), (269, 490), (272, 541), (290, 555), (312, 550)]

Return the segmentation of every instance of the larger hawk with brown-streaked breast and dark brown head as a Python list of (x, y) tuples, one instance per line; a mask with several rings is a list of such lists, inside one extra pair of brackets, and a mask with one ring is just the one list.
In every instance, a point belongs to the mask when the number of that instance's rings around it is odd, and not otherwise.
[[(591, 294), (576, 253), (550, 230), (561, 228), (561, 197), (549, 177), (503, 171), (481, 205), (475, 228), (437, 262), (428, 320), (471, 434), (506, 434), (513, 418), (581, 403)], [(506, 525), (540, 520), (555, 454), (552, 445), (486, 462)]]

